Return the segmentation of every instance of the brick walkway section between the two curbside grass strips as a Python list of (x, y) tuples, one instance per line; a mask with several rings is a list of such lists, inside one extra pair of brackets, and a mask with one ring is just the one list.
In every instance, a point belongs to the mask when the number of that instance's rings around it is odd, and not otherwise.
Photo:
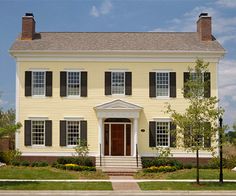
[[(114, 191), (130, 190), (130, 191), (140, 191), (140, 188), (134, 180), (133, 176), (110, 176), (110, 180), (121, 180), (112, 181), (112, 188)], [(127, 182), (124, 182), (127, 180)]]

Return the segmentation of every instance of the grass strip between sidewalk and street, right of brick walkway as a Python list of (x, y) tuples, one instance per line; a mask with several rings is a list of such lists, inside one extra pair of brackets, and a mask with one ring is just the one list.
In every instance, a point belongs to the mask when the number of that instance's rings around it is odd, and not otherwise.
[(235, 183), (139, 182), (141, 190), (236, 190)]

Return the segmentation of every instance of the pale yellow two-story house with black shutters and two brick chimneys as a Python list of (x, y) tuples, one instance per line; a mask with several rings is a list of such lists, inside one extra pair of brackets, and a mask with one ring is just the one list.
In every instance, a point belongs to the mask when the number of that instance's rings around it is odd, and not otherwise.
[[(28, 159), (75, 154), (78, 139), (97, 165), (135, 167), (152, 147), (173, 157), (195, 155), (178, 146), (165, 103), (184, 111), (185, 72), (197, 58), (210, 62), (210, 89), (218, 96), (217, 65), (225, 50), (202, 13), (196, 32), (35, 32), (31, 13), (10, 48), (16, 60), (16, 148)], [(175, 145), (176, 144), (176, 145)], [(209, 152), (200, 152), (209, 158)], [(115, 160), (115, 163), (114, 163)]]

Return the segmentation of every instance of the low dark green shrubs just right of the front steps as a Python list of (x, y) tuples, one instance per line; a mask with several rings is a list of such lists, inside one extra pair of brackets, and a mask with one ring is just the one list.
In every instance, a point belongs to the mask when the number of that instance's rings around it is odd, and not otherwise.
[(183, 164), (176, 159), (163, 159), (163, 158), (153, 158), (153, 159), (146, 159), (142, 158), (142, 166), (143, 168), (148, 168), (148, 167), (159, 167), (159, 166), (174, 166), (177, 169), (182, 169)]

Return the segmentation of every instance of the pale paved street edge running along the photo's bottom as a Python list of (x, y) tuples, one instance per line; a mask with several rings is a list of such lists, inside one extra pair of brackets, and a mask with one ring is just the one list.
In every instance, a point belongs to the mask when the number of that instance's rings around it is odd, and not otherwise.
[(0, 191), (1, 196), (236, 196), (235, 191)]

